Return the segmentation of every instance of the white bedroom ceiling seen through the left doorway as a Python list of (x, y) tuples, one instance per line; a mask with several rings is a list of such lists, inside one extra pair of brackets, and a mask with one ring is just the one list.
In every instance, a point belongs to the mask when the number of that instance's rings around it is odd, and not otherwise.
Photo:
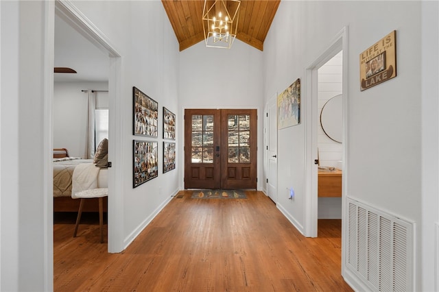
[(60, 16), (55, 15), (56, 67), (69, 67), (73, 73), (54, 73), (54, 82), (108, 82), (108, 53), (98, 49)]

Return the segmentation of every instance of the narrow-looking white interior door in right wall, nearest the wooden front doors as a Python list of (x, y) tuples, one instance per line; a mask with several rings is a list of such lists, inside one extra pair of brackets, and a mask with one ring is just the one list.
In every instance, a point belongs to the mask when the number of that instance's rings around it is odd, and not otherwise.
[(268, 156), (268, 173), (267, 173), (267, 192), (268, 197), (274, 203), (277, 202), (277, 104), (276, 96), (268, 101), (268, 121), (267, 121), (267, 156)]

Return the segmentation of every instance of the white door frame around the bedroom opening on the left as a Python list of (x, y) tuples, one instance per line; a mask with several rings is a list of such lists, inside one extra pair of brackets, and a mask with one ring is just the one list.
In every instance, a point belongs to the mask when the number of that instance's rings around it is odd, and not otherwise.
[[(45, 60), (45, 86), (47, 88), (45, 110), (48, 112), (47, 120), (45, 120), (45, 128), (49, 129), (47, 134), (49, 138), (45, 139), (47, 151), (52, 151), (53, 148), (53, 114), (52, 104), (54, 102), (54, 14), (67, 21), (72, 27), (78, 29), (90, 42), (106, 51), (108, 53), (108, 110), (109, 110), (109, 132), (108, 135), (112, 138), (108, 142), (108, 155), (112, 160), (113, 167), (108, 171), (108, 252), (121, 252), (123, 250), (123, 184), (120, 180), (114, 178), (123, 177), (123, 168), (120, 167), (123, 153), (123, 112), (116, 110), (123, 108), (123, 100), (121, 99), (121, 54), (110, 44), (108, 38), (89, 21), (86, 16), (71, 3), (71, 1), (48, 1), (46, 2), (47, 11), (50, 17), (45, 21), (45, 29), (47, 39), (45, 43), (49, 49), (47, 58)], [(48, 179), (46, 180), (47, 188), (52, 188), (53, 169), (47, 169)], [(52, 199), (52, 192), (47, 193), (49, 201)], [(46, 206), (45, 213), (49, 216), (53, 215), (53, 205)], [(53, 224), (52, 224), (53, 225)], [(53, 226), (51, 226), (51, 233), (53, 233)], [(53, 237), (51, 241), (47, 241), (45, 250), (51, 251), (53, 256)], [(51, 278), (53, 279), (53, 269), (51, 271)]]

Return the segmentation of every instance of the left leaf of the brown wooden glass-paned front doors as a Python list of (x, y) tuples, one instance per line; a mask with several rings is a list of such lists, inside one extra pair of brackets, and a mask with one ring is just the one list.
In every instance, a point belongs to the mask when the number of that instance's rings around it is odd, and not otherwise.
[(185, 188), (221, 188), (220, 110), (185, 110)]

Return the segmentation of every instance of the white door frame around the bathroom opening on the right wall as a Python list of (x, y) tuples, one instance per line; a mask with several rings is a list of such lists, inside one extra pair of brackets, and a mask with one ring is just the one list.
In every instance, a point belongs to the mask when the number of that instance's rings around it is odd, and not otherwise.
[[(318, 226), (318, 165), (314, 160), (318, 159), (318, 69), (331, 60), (340, 51), (343, 51), (342, 66), (342, 94), (343, 99), (343, 175), (342, 175), (342, 251), (344, 243), (344, 223), (346, 222), (346, 190), (348, 182), (348, 27), (343, 27), (335, 36), (331, 44), (320, 56), (305, 69), (305, 236), (316, 237)], [(342, 271), (344, 271), (344, 253), (342, 252)], [(343, 272), (342, 272), (343, 274)]]

